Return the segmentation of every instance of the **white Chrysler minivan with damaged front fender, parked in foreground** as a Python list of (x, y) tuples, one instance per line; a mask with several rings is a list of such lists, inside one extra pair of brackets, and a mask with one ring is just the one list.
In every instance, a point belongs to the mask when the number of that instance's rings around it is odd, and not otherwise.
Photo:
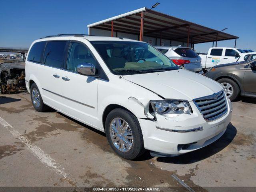
[(219, 83), (179, 68), (145, 42), (41, 38), (30, 46), (25, 70), (37, 111), (51, 107), (105, 132), (126, 159), (145, 150), (176, 156), (202, 148), (224, 134), (231, 118)]

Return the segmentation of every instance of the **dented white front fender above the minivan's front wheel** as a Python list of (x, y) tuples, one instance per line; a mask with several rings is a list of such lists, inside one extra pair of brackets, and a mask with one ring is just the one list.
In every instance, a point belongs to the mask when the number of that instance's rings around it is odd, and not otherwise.
[(110, 80), (109, 82), (100, 81), (98, 84), (99, 119), (102, 119), (104, 111), (111, 104), (126, 108), (137, 118), (147, 118), (144, 113), (145, 107), (148, 106), (150, 100), (159, 99), (161, 98), (150, 90), (123, 78)]

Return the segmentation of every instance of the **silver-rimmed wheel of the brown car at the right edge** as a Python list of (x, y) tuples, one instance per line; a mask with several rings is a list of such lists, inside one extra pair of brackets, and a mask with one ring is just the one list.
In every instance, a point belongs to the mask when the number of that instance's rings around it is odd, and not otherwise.
[(240, 88), (238, 84), (233, 80), (228, 78), (222, 78), (222, 79), (219, 79), (218, 82), (222, 85), (227, 97), (231, 101), (234, 101), (240, 94)]

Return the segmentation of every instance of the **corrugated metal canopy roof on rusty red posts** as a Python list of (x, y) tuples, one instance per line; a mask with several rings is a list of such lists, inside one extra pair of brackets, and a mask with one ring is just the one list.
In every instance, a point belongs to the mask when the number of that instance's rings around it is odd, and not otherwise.
[(88, 28), (111, 30), (111, 21), (114, 21), (114, 31), (130, 34), (140, 34), (140, 13), (144, 12), (144, 36), (187, 42), (188, 28), (190, 28), (190, 42), (204, 43), (217, 40), (237, 39), (238, 36), (220, 32), (193, 22), (182, 20), (163, 14), (146, 7), (127, 12), (106, 20), (89, 24)]

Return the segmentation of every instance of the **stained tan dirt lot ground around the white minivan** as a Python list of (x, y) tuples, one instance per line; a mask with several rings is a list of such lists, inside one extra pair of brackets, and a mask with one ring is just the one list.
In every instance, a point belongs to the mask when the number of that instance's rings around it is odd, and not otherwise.
[(0, 186), (156, 186), (190, 192), (256, 187), (256, 100), (233, 102), (226, 133), (205, 148), (173, 158), (146, 153), (129, 161), (112, 152), (104, 133), (54, 110), (36, 112), (29, 94), (4, 96)]

